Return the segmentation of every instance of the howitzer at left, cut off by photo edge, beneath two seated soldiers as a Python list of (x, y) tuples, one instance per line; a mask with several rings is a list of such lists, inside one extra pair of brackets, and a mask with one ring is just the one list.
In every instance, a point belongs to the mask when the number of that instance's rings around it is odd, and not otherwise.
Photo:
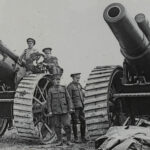
[[(40, 56), (43, 55), (33, 53), (32, 60)], [(27, 69), (27, 63), (0, 42), (0, 136), (8, 125), (12, 126), (13, 120), (23, 139), (50, 143), (55, 132), (49, 127), (46, 98), (53, 78), (38, 64), (33, 66), (35, 73), (26, 73)]]

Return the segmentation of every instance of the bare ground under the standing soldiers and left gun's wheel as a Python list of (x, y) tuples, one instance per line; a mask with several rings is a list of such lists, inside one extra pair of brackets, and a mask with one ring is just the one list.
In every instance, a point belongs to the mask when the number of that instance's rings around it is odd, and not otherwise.
[(40, 145), (36, 142), (25, 141), (17, 135), (15, 129), (6, 131), (5, 135), (0, 139), (0, 150), (94, 150), (94, 143), (73, 144), (68, 147), (63, 145), (56, 147), (52, 145)]

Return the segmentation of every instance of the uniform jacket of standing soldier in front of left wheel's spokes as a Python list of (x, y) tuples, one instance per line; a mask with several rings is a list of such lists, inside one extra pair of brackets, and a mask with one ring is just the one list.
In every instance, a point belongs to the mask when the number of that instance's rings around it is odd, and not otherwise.
[(48, 111), (53, 114), (65, 114), (73, 109), (73, 104), (65, 86), (51, 87), (48, 90)]

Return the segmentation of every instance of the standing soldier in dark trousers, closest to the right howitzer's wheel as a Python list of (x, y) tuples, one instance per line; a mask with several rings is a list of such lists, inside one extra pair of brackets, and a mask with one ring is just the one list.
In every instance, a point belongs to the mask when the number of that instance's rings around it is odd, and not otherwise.
[(84, 93), (81, 84), (79, 83), (81, 73), (71, 74), (73, 81), (68, 85), (67, 89), (72, 98), (75, 112), (71, 114), (72, 128), (74, 134), (74, 142), (78, 143), (77, 124), (80, 121), (81, 140), (83, 143), (87, 142), (85, 138), (86, 122), (84, 115)]

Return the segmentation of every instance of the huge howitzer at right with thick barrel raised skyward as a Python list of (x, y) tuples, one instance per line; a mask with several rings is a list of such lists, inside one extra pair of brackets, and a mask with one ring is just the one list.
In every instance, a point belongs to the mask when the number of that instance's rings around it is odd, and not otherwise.
[(105, 134), (109, 126), (150, 119), (149, 23), (144, 14), (132, 18), (120, 3), (107, 6), (103, 17), (119, 42), (124, 62), (123, 66), (98, 66), (89, 75), (85, 116), (93, 138)]

